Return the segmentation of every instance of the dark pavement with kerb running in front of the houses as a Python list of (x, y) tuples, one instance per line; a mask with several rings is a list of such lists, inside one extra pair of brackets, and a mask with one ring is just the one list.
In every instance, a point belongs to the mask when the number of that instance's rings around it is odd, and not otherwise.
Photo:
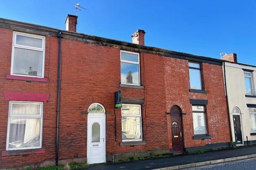
[(89, 168), (86, 168), (86, 170), (182, 169), (252, 157), (256, 157), (256, 146), (210, 151), (203, 154), (183, 154), (173, 157), (139, 160), (134, 162), (99, 164), (92, 165)]

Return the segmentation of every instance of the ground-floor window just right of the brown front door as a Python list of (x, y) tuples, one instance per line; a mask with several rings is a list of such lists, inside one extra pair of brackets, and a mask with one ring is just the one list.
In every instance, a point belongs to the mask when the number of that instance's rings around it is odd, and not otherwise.
[(206, 134), (206, 118), (204, 106), (192, 106), (194, 134)]

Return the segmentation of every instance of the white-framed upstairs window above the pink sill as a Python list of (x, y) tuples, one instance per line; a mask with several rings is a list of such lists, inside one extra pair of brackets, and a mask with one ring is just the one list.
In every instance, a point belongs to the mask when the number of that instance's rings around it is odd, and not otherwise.
[(13, 33), (11, 75), (44, 77), (45, 37)]

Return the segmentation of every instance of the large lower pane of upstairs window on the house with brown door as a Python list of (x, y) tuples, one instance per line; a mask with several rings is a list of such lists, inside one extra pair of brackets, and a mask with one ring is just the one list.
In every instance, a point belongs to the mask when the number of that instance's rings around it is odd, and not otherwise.
[(190, 89), (202, 90), (201, 71), (189, 69)]

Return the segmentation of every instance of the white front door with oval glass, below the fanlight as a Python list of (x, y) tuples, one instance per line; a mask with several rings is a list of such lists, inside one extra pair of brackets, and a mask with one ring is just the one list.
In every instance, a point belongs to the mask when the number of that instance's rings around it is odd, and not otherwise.
[(87, 118), (87, 163), (106, 163), (106, 116), (89, 113)]

